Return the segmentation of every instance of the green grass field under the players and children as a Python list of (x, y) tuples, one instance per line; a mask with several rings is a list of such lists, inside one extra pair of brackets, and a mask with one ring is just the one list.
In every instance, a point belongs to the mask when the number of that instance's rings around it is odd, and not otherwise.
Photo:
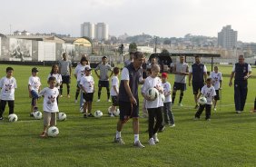
[[(160, 142), (148, 144), (147, 122), (140, 119), (140, 140), (144, 149), (133, 148), (132, 122), (123, 128), (125, 145), (113, 143), (117, 118), (107, 116), (106, 91), (103, 89), (102, 102), (93, 103), (93, 110), (103, 111), (101, 119), (87, 118), (79, 113), (74, 103), (75, 80), (72, 78), (72, 97), (60, 98), (60, 111), (67, 114), (67, 120), (57, 122), (60, 134), (55, 138), (42, 139), (43, 120), (29, 117), (30, 102), (27, 82), (33, 66), (1, 64), (1, 77), (5, 68), (15, 69), (18, 88), (15, 90), (16, 123), (8, 123), (8, 107), (5, 120), (0, 123), (0, 166), (255, 166), (256, 164), (256, 114), (250, 113), (256, 94), (256, 79), (249, 80), (249, 92), (244, 113), (234, 113), (233, 87), (228, 86), (229, 78), (223, 78), (222, 106), (212, 112), (212, 121), (193, 121), (196, 112), (192, 107), (192, 87), (184, 93), (183, 107), (174, 103), (174, 128), (167, 127), (159, 133)], [(209, 69), (211, 69), (209, 67)], [(51, 67), (39, 66), (42, 87), (47, 86), (46, 78)], [(231, 66), (221, 66), (222, 74), (231, 74)], [(252, 70), (255, 71), (255, 68)], [(255, 73), (255, 72), (254, 72)], [(94, 72), (93, 72), (94, 74)], [(173, 84), (173, 75), (169, 75)], [(94, 80), (96, 81), (95, 75)], [(97, 81), (96, 81), (97, 85)], [(96, 88), (97, 89), (97, 88)], [(97, 90), (96, 90), (97, 91)], [(64, 87), (64, 94), (66, 88)], [(176, 102), (179, 93), (176, 95)], [(94, 94), (94, 101), (97, 93)], [(142, 96), (141, 96), (142, 102)], [(43, 99), (39, 101), (42, 111)]]

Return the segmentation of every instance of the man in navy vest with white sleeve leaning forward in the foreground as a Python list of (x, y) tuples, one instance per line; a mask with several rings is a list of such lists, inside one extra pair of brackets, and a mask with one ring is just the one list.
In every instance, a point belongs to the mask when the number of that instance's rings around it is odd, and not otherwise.
[(139, 96), (138, 96), (138, 83), (143, 83), (142, 79), (142, 64), (144, 54), (136, 52), (133, 54), (133, 63), (123, 68), (121, 74), (121, 82), (119, 87), (119, 110), (120, 118), (116, 127), (116, 134), (114, 142), (124, 144), (121, 137), (123, 124), (129, 118), (133, 118), (133, 146), (144, 148), (139, 140)]

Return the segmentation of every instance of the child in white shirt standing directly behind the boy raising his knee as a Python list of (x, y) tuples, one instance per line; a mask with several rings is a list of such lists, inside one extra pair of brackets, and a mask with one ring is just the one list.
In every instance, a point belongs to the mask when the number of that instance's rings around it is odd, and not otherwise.
[(213, 106), (214, 111), (216, 111), (217, 101), (220, 100), (220, 93), (222, 89), (222, 73), (218, 71), (218, 66), (214, 66), (214, 72), (210, 74), (210, 78), (212, 78), (212, 85), (215, 89), (216, 95), (214, 96)]

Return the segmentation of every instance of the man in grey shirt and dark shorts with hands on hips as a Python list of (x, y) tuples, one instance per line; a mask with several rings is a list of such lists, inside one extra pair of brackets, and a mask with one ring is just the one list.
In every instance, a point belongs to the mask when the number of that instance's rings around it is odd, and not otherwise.
[[(94, 69), (95, 74), (98, 76), (99, 83), (98, 83), (98, 101), (101, 101), (101, 94), (102, 94), (102, 88), (105, 87), (107, 90), (107, 101), (110, 101), (110, 90), (109, 90), (109, 78), (113, 75), (113, 69), (110, 66), (110, 64), (106, 64), (107, 57), (103, 56), (102, 58), (102, 64), (98, 64), (98, 66)], [(100, 70), (100, 74), (97, 73), (97, 71)], [(111, 71), (110, 76), (108, 75), (108, 71)]]

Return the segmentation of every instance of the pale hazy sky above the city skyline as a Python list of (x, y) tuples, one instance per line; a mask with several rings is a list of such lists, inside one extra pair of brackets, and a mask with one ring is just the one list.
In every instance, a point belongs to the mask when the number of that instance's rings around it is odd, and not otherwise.
[(80, 36), (84, 22), (103, 22), (115, 36), (217, 37), (231, 25), (239, 41), (256, 42), (255, 0), (0, 0), (0, 5), (0, 34)]

